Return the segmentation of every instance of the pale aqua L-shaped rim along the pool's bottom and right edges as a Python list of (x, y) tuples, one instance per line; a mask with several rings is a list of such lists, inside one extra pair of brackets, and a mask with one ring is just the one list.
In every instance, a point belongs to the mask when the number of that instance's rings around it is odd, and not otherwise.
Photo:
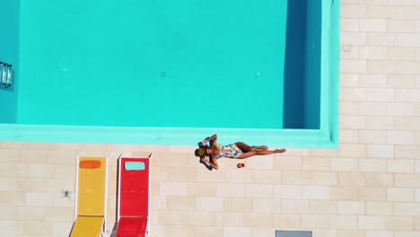
[[(214, 133), (229, 142), (275, 147), (333, 148), (338, 141), (339, 1), (322, 0), (319, 129), (95, 127), (0, 124), (0, 141), (194, 145)], [(331, 47), (333, 46), (333, 47)]]

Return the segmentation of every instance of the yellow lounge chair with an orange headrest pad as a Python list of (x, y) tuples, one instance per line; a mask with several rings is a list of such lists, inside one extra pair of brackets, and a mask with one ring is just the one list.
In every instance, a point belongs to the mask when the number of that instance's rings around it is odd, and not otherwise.
[(75, 220), (71, 237), (106, 232), (108, 157), (77, 157)]

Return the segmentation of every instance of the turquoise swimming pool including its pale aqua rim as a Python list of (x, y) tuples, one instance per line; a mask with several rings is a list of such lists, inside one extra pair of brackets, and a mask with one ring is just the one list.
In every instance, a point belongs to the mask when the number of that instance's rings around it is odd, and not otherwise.
[(0, 140), (337, 146), (339, 1), (7, 7)]

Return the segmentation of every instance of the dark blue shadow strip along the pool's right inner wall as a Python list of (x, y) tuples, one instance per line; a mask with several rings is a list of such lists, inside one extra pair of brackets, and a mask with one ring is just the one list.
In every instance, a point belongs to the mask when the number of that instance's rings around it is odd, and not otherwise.
[(321, 1), (289, 0), (284, 56), (284, 128), (319, 129)]

